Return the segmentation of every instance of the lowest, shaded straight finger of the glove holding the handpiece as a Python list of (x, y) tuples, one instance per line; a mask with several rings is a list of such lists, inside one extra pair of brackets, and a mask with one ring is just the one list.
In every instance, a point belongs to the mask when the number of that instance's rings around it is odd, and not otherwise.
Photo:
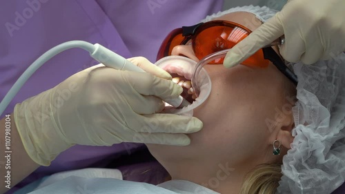
[(137, 133), (129, 142), (144, 144), (164, 144), (170, 146), (188, 146), (190, 139), (184, 134), (172, 133)]

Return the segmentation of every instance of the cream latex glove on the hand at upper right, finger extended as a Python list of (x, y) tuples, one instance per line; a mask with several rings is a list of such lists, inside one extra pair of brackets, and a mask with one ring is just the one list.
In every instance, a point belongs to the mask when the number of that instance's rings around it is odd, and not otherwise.
[(281, 12), (237, 43), (224, 66), (233, 67), (285, 35), (280, 54), (290, 62), (313, 64), (345, 50), (344, 0), (290, 0)]

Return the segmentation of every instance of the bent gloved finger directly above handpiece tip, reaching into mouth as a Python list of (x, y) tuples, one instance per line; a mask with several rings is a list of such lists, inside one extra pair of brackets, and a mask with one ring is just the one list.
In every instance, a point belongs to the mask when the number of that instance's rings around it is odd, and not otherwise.
[(161, 99), (166, 99), (178, 97), (183, 91), (183, 88), (174, 82), (148, 73), (138, 73), (137, 76), (133, 75), (133, 72), (124, 73), (127, 73), (127, 79), (132, 88), (141, 95), (154, 95)]

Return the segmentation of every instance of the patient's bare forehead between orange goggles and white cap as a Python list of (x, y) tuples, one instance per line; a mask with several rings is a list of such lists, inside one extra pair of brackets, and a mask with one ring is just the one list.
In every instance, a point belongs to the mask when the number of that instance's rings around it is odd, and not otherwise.
[(217, 17), (213, 20), (233, 21), (252, 31), (262, 25), (262, 22), (257, 19), (257, 17), (255, 17), (255, 14), (252, 14), (250, 12), (232, 12), (224, 14), (221, 17)]

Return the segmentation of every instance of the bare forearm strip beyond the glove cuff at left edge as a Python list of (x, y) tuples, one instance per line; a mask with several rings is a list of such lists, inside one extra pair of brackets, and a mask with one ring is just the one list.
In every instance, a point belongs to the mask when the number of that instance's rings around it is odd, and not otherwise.
[(12, 115), (6, 115), (0, 121), (0, 193), (8, 191), (38, 167), (26, 153)]

